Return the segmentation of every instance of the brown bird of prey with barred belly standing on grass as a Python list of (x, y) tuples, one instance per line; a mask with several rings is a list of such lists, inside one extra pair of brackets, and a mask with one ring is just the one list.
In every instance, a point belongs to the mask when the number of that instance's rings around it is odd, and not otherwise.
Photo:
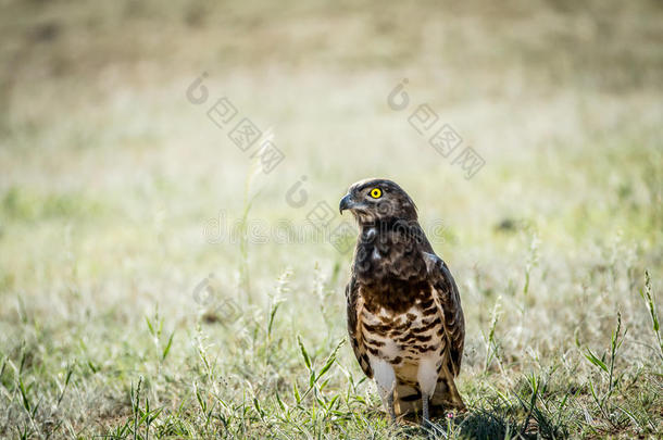
[(339, 211), (359, 223), (346, 287), (348, 332), (363, 372), (397, 416), (463, 410), (453, 378), (465, 322), (455, 281), (417, 222), (410, 196), (387, 179), (353, 184)]

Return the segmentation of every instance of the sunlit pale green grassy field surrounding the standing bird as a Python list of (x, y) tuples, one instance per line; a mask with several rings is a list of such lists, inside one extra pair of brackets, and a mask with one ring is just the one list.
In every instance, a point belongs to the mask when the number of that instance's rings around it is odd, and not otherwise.
[[(0, 437), (425, 438), (381, 413), (343, 343), (351, 254), (307, 222), (366, 176), (410, 192), (461, 291), (470, 411), (431, 437), (663, 435), (658, 3), (3, 8)], [(272, 173), (221, 97), (274, 127)]]

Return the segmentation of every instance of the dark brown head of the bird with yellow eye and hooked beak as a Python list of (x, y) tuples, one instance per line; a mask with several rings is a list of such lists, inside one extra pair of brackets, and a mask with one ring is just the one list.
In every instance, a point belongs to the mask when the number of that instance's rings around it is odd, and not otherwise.
[(340, 213), (350, 211), (360, 226), (390, 222), (416, 222), (416, 206), (408, 193), (388, 179), (364, 179), (348, 189), (340, 200)]

